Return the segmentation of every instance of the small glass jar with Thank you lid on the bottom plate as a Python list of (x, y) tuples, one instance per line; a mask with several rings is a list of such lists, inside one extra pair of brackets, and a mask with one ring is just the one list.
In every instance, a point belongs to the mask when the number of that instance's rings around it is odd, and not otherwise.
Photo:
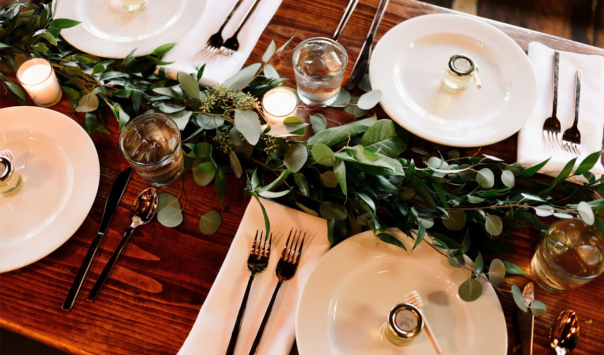
[(401, 303), (390, 310), (384, 334), (392, 344), (402, 347), (422, 333), (422, 329), (422, 312), (413, 304)]

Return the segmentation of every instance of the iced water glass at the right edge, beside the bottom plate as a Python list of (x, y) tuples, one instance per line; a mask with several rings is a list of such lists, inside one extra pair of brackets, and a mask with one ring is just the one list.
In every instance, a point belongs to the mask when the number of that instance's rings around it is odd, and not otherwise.
[(537, 247), (531, 272), (554, 293), (588, 283), (604, 272), (604, 240), (582, 220), (559, 220)]

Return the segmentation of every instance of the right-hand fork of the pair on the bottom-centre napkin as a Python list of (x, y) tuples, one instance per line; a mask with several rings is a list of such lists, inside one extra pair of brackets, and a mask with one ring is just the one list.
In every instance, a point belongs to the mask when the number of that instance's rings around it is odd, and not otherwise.
[[(260, 323), (260, 328), (258, 333), (256, 333), (256, 337), (254, 339), (254, 343), (252, 344), (252, 348), (249, 350), (249, 355), (254, 355), (256, 351), (258, 351), (258, 346), (260, 345), (260, 340), (262, 340), (262, 334), (265, 331), (266, 323), (268, 322), (269, 316), (271, 316), (272, 306), (275, 304), (275, 299), (277, 298), (277, 293), (279, 292), (279, 288), (283, 281), (287, 281), (294, 277), (296, 270), (298, 269), (298, 261), (300, 261), (300, 253), (302, 252), (302, 245), (304, 244), (304, 237), (306, 237), (306, 232), (300, 237), (302, 232), (298, 232), (298, 229), (294, 232), (294, 238), (291, 238), (292, 228), (289, 231), (288, 240), (285, 242), (285, 246), (283, 247), (283, 252), (281, 252), (281, 257), (277, 262), (277, 269), (275, 269), (275, 274), (277, 274), (277, 287), (275, 287), (275, 291), (272, 293), (271, 302), (268, 304), (268, 308), (266, 309), (266, 313), (262, 318), (262, 323)], [(296, 238), (296, 234), (298, 237)], [(291, 238), (291, 244), (289, 240)]]

